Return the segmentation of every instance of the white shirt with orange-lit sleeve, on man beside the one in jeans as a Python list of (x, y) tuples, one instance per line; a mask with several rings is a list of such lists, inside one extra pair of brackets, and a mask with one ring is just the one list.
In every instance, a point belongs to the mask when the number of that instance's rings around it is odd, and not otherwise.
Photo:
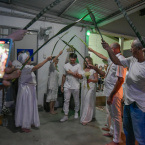
[[(122, 56), (120, 53), (116, 54), (116, 56), (118, 57), (119, 60), (124, 59), (124, 56)], [(114, 86), (118, 80), (118, 77), (122, 77), (125, 79), (126, 68), (124, 68), (123, 66), (115, 65), (110, 60), (110, 58), (108, 58), (108, 68), (107, 68), (106, 75), (107, 76), (104, 79), (104, 95), (108, 97), (111, 94), (112, 90), (114, 89)], [(120, 94), (122, 94), (122, 96), (120, 97), (123, 97), (122, 86), (119, 89), (119, 91), (120, 91)]]

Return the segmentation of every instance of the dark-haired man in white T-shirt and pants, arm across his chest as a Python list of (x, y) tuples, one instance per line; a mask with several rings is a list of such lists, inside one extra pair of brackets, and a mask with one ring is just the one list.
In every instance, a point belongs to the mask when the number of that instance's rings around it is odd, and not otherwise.
[(80, 64), (76, 63), (77, 55), (75, 53), (70, 53), (69, 60), (67, 64), (64, 65), (64, 73), (62, 77), (61, 91), (64, 92), (64, 117), (60, 120), (61, 122), (68, 120), (68, 112), (69, 112), (69, 102), (71, 94), (73, 94), (75, 101), (75, 116), (74, 118), (78, 118), (79, 111), (79, 90), (80, 90), (80, 82), (79, 79), (82, 78), (82, 69)]

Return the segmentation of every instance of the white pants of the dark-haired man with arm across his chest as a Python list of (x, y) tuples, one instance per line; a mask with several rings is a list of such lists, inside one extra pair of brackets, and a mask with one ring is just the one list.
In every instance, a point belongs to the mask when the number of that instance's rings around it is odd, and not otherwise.
[(65, 115), (68, 115), (69, 112), (69, 102), (71, 94), (73, 94), (74, 101), (75, 101), (75, 112), (79, 111), (79, 89), (67, 89), (64, 88), (64, 106), (63, 111)]

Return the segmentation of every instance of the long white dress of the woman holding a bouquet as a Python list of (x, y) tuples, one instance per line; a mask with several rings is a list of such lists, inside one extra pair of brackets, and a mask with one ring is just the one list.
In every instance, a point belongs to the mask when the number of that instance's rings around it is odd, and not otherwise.
[[(90, 69), (89, 79), (94, 79), (95, 70)], [(95, 100), (96, 100), (96, 83), (90, 82), (89, 88), (87, 86), (87, 78), (85, 71), (83, 71), (83, 81), (81, 85), (81, 109), (80, 122), (88, 123), (95, 115)]]

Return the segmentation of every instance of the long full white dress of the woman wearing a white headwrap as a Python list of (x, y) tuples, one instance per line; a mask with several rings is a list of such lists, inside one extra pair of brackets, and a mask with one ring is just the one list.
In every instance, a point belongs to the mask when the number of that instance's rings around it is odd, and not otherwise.
[(31, 72), (33, 65), (26, 65), (19, 78), (19, 88), (16, 102), (15, 125), (30, 129), (31, 125), (40, 126), (37, 96), (36, 76)]

